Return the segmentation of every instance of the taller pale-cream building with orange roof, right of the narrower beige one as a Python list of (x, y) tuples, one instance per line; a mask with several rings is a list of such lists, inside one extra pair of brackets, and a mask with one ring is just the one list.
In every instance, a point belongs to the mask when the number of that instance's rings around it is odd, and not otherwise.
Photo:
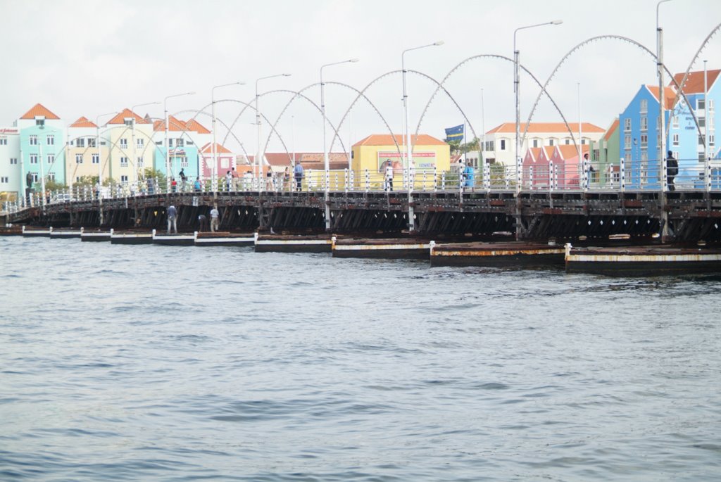
[(125, 108), (105, 127), (102, 137), (110, 153), (110, 177), (123, 186), (136, 182), (152, 166), (153, 123)]

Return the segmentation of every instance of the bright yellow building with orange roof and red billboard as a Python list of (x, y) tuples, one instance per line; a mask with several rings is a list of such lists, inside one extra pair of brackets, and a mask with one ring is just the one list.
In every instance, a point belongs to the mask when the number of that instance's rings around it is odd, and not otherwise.
[[(422, 188), (423, 182), (431, 183), (434, 172), (440, 177), (443, 171), (451, 169), (451, 147), (443, 140), (419, 134), (412, 136), (412, 146), (415, 189)], [(367, 175), (369, 182), (375, 186), (383, 182), (388, 161), (393, 165), (394, 177), (403, 179), (408, 168), (405, 158), (403, 135), (371, 134), (353, 144), (353, 159), (350, 162), (356, 177), (365, 178)]]

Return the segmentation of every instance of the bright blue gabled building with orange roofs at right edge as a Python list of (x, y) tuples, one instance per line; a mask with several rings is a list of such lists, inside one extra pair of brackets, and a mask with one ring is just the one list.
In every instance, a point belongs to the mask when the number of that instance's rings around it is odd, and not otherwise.
[[(678, 175), (676, 185), (680, 188), (699, 187), (703, 179), (706, 152), (712, 159), (712, 166), (719, 159), (719, 149), (715, 143), (715, 100), (721, 95), (721, 88), (716, 80), (721, 71), (708, 71), (708, 91), (704, 96), (704, 73), (689, 73), (682, 87), (689, 99), (686, 104), (683, 97), (676, 101), (675, 84), (664, 90), (664, 118), (668, 138), (665, 140), (666, 151), (671, 151), (678, 159)], [(676, 74), (674, 78), (681, 84), (684, 74)], [(660, 189), (662, 155), (660, 152), (660, 102), (658, 86), (643, 85), (634, 95), (624, 112), (619, 115), (620, 156), (625, 161), (626, 186), (634, 189)], [(708, 109), (706, 109), (706, 102)], [(702, 134), (694, 123), (691, 110), (694, 111)], [(708, 151), (706, 146), (706, 129), (708, 129)]]

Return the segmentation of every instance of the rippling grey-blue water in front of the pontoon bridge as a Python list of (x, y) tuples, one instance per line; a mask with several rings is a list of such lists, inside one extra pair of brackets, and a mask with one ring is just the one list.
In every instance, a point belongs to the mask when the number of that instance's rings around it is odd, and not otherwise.
[(720, 480), (720, 290), (0, 237), (0, 479)]

